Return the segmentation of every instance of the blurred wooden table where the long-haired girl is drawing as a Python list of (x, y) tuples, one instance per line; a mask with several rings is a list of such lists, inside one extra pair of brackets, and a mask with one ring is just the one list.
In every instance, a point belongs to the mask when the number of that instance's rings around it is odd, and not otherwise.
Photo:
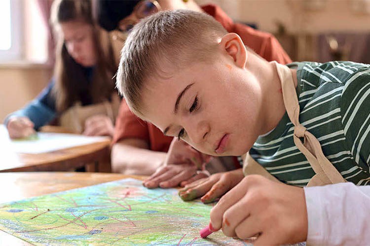
[[(7, 131), (0, 129), (0, 172), (71, 171), (111, 172), (110, 140), (41, 154), (19, 154), (9, 149)], [(52, 128), (52, 131), (60, 131)], [(50, 131), (50, 129), (49, 129)]]

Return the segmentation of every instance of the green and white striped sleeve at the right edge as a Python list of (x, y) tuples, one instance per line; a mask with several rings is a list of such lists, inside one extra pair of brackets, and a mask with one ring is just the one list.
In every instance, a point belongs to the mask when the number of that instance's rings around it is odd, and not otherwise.
[(345, 82), (340, 102), (348, 148), (365, 170), (370, 163), (370, 67), (359, 69)]

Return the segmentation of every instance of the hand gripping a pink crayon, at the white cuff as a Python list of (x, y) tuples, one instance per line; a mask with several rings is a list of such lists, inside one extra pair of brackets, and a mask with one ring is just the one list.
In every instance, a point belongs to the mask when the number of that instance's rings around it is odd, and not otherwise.
[(254, 245), (303, 242), (308, 224), (303, 188), (247, 176), (212, 208), (211, 223), (229, 237), (258, 236)]

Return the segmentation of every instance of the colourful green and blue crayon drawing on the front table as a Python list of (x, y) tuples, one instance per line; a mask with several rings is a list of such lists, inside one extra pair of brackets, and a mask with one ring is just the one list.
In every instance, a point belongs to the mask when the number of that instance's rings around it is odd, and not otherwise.
[(35, 245), (248, 245), (199, 230), (212, 205), (124, 179), (0, 205), (0, 229)]

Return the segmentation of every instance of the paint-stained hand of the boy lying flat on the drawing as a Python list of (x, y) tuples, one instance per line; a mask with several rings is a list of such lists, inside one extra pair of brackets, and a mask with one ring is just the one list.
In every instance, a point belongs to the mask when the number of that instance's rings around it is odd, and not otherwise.
[(212, 174), (210, 177), (187, 184), (179, 191), (181, 199), (190, 201), (200, 196), (203, 203), (210, 203), (238, 184), (244, 178), (242, 168)]

